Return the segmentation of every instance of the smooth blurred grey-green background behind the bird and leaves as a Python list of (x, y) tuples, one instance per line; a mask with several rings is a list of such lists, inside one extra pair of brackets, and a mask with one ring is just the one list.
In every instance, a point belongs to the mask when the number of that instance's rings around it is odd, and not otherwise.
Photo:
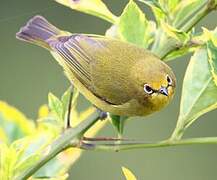
[[(119, 15), (126, 0), (104, 0)], [(140, 4), (141, 6), (141, 4)], [(141, 6), (144, 9), (144, 5)], [(145, 9), (147, 16), (149, 11)], [(49, 91), (60, 95), (69, 86), (61, 67), (44, 49), (20, 42), (15, 33), (33, 15), (45, 16), (57, 27), (82, 33), (104, 34), (109, 23), (72, 11), (51, 0), (0, 0), (0, 99), (16, 106), (30, 118), (47, 102)], [(213, 29), (217, 13), (211, 13), (197, 26)], [(176, 123), (181, 85), (190, 56), (170, 62), (178, 88), (174, 101), (164, 110), (141, 119), (131, 119), (125, 137), (147, 141), (167, 138)], [(143, 120), (144, 119), (144, 120)], [(111, 125), (99, 135), (114, 136)], [(185, 137), (217, 136), (217, 111), (201, 117)], [(217, 179), (217, 146), (194, 145), (125, 152), (85, 152), (72, 167), (70, 179), (124, 179), (121, 166), (131, 169), (141, 180), (214, 180)]]

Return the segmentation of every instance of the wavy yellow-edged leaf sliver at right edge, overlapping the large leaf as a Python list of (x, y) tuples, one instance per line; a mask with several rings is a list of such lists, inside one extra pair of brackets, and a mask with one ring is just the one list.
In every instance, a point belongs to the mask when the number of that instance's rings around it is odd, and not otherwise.
[(211, 73), (214, 79), (214, 82), (217, 86), (217, 47), (213, 44), (212, 41), (207, 42), (207, 52), (208, 60), (210, 64)]

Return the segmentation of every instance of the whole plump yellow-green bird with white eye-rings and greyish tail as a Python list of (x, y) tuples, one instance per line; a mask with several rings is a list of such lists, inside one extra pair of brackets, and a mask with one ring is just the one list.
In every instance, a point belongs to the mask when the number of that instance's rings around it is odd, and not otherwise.
[(48, 49), (71, 83), (105, 112), (146, 116), (173, 97), (171, 68), (136, 45), (61, 31), (41, 16), (30, 19), (16, 37)]

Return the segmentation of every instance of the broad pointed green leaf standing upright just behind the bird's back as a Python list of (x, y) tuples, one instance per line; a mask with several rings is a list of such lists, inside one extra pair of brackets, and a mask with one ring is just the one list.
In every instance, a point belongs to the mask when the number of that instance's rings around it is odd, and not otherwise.
[(120, 16), (118, 30), (123, 40), (147, 48), (153, 41), (153, 22), (130, 0)]

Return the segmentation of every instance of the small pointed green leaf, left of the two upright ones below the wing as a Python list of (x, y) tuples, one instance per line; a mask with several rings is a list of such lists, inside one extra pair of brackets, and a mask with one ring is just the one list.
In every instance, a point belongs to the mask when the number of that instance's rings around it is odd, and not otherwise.
[(48, 106), (50, 110), (55, 113), (58, 120), (62, 121), (63, 105), (62, 102), (52, 93), (48, 94)]

